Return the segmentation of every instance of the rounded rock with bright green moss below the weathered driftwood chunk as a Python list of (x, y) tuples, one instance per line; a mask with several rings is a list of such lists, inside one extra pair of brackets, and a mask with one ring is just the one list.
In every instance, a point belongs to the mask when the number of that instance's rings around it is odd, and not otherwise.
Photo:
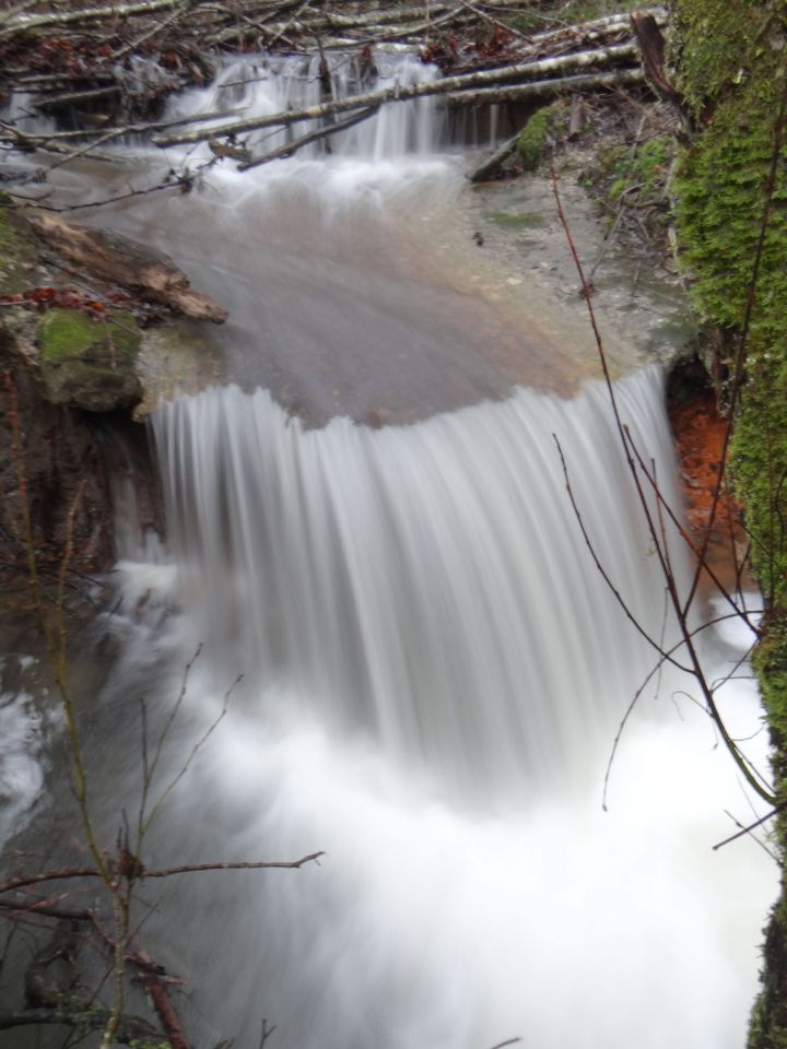
[(36, 326), (44, 396), (52, 404), (111, 412), (136, 404), (141, 332), (132, 314), (113, 310), (92, 320), (73, 309), (50, 309)]

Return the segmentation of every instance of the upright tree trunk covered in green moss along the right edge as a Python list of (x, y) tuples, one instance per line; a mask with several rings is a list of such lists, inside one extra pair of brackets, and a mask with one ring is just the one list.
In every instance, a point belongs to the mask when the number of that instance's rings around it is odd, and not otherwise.
[[(695, 126), (677, 223), (695, 303), (721, 334), (731, 470), (766, 614), (754, 653), (787, 801), (787, 3), (674, 0), (672, 63)], [(787, 813), (777, 821), (787, 854)], [(787, 1047), (787, 889), (765, 934), (750, 1049)]]

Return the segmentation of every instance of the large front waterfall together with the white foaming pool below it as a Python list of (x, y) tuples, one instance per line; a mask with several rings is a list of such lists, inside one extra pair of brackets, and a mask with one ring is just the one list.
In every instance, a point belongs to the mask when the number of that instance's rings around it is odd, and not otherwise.
[[(658, 374), (619, 396), (671, 491)], [(328, 853), (165, 891), (156, 954), (195, 978), (203, 1040), (254, 1045), (265, 1016), (299, 1049), (743, 1044), (775, 873), (751, 841), (712, 851), (724, 809), (750, 810), (685, 682), (645, 694), (601, 811), (651, 657), (584, 550), (553, 431), (600, 555), (651, 629), (662, 608), (604, 398), (519, 391), (381, 432), (305, 432), (234, 389), (157, 413), (171, 644), (207, 641), (173, 769), (249, 677), (151, 846)], [(719, 675), (747, 645), (715, 636)], [(756, 726), (750, 683), (724, 703)]]

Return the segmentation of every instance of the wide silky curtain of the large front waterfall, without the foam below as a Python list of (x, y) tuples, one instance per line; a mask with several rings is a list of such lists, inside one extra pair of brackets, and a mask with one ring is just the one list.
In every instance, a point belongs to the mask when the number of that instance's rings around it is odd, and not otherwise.
[[(620, 397), (674, 500), (659, 374)], [(378, 431), (305, 431), (267, 392), (227, 387), (154, 426), (183, 600), (226, 673), (477, 799), (543, 789), (609, 741), (648, 653), (585, 549), (553, 435), (598, 555), (656, 637), (663, 584), (602, 386)]]

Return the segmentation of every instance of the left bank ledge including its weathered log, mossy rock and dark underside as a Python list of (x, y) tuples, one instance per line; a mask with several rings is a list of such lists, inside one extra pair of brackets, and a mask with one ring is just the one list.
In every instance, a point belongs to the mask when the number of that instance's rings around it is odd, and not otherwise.
[[(24, 593), (115, 558), (114, 504), (133, 483), (139, 528), (160, 529), (146, 433), (158, 396), (215, 380), (207, 321), (226, 311), (166, 256), (0, 195), (0, 585)], [(23, 600), (23, 599), (20, 599)]]

